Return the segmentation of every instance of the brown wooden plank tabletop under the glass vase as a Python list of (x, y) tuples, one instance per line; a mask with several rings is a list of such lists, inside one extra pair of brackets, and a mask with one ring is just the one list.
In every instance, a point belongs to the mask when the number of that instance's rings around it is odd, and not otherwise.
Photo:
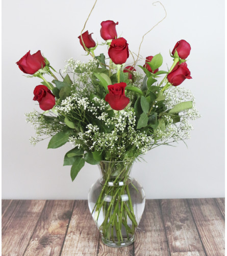
[(105, 246), (86, 200), (2, 200), (2, 255), (224, 255), (224, 198), (146, 200), (134, 244)]

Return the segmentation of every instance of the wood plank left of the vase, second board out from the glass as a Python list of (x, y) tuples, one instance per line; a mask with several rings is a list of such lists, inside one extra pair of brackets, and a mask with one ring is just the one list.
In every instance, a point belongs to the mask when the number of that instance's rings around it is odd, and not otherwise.
[(48, 200), (23, 256), (60, 255), (73, 200)]

